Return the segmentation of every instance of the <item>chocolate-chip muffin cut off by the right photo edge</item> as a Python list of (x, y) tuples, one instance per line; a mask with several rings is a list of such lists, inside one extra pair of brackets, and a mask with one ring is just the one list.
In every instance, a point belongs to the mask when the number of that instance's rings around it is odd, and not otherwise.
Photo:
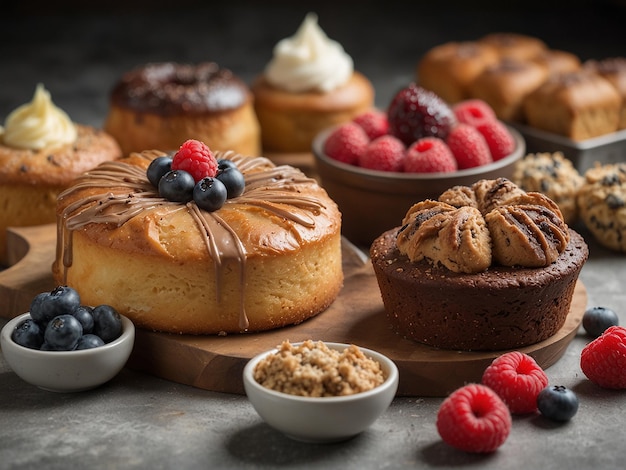
[(607, 248), (626, 252), (626, 163), (597, 164), (578, 192), (580, 218)]

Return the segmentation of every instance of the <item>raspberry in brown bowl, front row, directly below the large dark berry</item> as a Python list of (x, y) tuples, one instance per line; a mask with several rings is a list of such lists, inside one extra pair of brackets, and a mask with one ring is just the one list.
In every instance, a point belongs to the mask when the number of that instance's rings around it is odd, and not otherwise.
[(407, 173), (436, 173), (456, 171), (454, 155), (446, 143), (437, 137), (424, 137), (411, 145), (404, 161)]

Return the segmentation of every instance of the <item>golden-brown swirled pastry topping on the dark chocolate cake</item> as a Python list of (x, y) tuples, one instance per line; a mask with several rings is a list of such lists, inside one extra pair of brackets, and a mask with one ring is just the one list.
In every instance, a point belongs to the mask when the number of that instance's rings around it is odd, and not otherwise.
[(409, 209), (397, 236), (412, 262), (427, 259), (457, 273), (492, 264), (543, 267), (569, 243), (569, 229), (547, 196), (506, 178), (457, 186)]

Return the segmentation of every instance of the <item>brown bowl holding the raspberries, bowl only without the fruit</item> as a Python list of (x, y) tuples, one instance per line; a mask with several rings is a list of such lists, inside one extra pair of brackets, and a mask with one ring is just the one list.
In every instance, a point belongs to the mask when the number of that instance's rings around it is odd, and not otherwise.
[(407, 210), (416, 202), (437, 199), (453, 186), (469, 186), (481, 179), (511, 179), (517, 161), (526, 152), (521, 134), (508, 127), (515, 138), (515, 151), (488, 165), (451, 173), (375, 171), (333, 160), (324, 153), (324, 142), (334, 129), (322, 131), (313, 141), (315, 169), (342, 213), (343, 235), (368, 247), (383, 232), (401, 225)]

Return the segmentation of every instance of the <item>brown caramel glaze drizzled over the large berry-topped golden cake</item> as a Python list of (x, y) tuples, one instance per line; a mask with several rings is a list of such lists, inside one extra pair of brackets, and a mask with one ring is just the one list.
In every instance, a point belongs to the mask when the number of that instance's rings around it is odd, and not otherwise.
[[(153, 151), (139, 155), (150, 161), (166, 154)], [(302, 196), (299, 188), (301, 185), (313, 184), (315, 180), (291, 166), (274, 166), (264, 157), (244, 157), (232, 151), (217, 152), (215, 156), (234, 161), (246, 180), (243, 194), (228, 199), (225, 206), (256, 206), (293, 224), (307, 228), (315, 226), (313, 215), (319, 214), (325, 206), (318, 198)], [(247, 253), (237, 233), (220, 217), (220, 211), (203, 211), (193, 201), (186, 204), (168, 201), (158, 195), (156, 188), (148, 181), (144, 168), (120, 161), (105, 162), (83, 174), (71, 188), (59, 195), (59, 202), (83, 189), (107, 187), (126, 188), (128, 191), (122, 194), (106, 192), (79, 199), (69, 204), (58, 216), (57, 260), (63, 260), (64, 282), (67, 282), (67, 270), (73, 262), (72, 238), (75, 230), (91, 223), (120, 227), (143, 211), (157, 207), (164, 207), (168, 212), (186, 208), (214, 261), (218, 301), (221, 298), (221, 267), (224, 260), (234, 259), (239, 264), (239, 328), (247, 330), (249, 322), (244, 308)], [(293, 230), (293, 234), (298, 242), (302, 241), (296, 230)]]

